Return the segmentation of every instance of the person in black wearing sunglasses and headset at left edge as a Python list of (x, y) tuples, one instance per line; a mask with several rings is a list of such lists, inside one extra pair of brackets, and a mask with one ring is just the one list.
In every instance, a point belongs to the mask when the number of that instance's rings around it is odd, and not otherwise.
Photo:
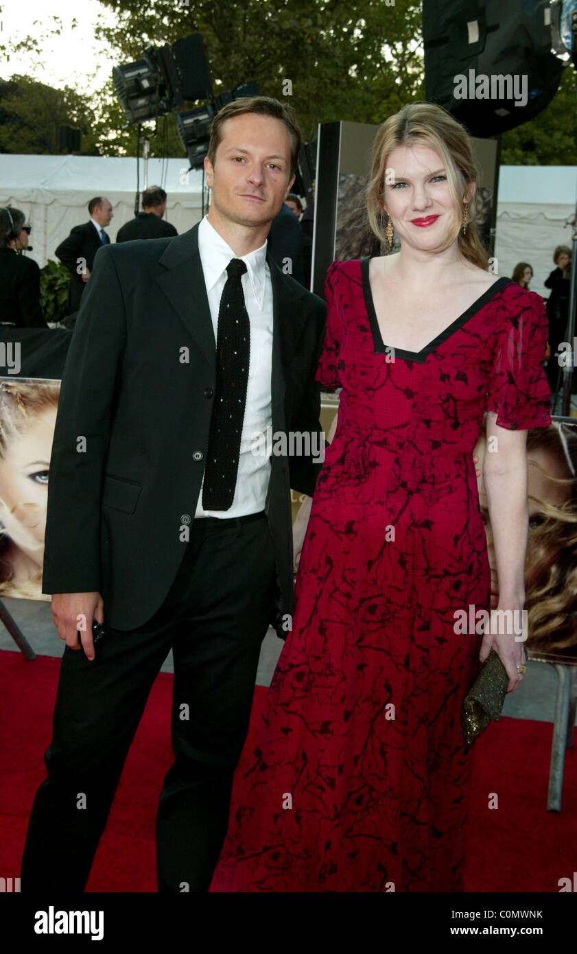
[(20, 209), (0, 209), (0, 321), (17, 327), (48, 328), (40, 308), (40, 269), (22, 255), (31, 226)]

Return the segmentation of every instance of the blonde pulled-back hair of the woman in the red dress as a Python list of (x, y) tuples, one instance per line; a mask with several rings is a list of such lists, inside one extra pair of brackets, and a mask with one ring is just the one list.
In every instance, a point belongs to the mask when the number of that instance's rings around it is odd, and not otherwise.
[(471, 213), (465, 234), (461, 228), (463, 218), (457, 213), (464, 206), (463, 196), (466, 187), (477, 181), (477, 170), (473, 161), (471, 144), (464, 127), (441, 106), (432, 103), (410, 103), (403, 106), (399, 113), (386, 119), (373, 142), (371, 156), (371, 174), (367, 189), (367, 209), (369, 224), (381, 242), (386, 241), (386, 222), (388, 213), (383, 208), (383, 196), (388, 156), (398, 146), (412, 146), (419, 143), (434, 149), (443, 160), (444, 170), (451, 196), (455, 203), (455, 221), (449, 237), (438, 251), (442, 252), (458, 238), (459, 250), (465, 259), (483, 268), (488, 268), (488, 257), (483, 242), (479, 238), (476, 211)]

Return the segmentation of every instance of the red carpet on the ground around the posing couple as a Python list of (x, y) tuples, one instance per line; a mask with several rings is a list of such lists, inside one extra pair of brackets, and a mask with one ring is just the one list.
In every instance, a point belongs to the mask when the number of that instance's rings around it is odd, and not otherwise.
[[(60, 661), (0, 652), (0, 877), (17, 877), (31, 803), (44, 778)], [(89, 891), (155, 891), (155, 811), (172, 761), (173, 677), (160, 674), (126, 761)], [(266, 694), (255, 695), (251, 729)], [(552, 726), (503, 718), (475, 743), (467, 891), (559, 891), (577, 844), (577, 746), (567, 750), (563, 811), (546, 811)], [(250, 745), (250, 736), (249, 742)], [(489, 809), (492, 793), (497, 808)], [(492, 802), (495, 802), (494, 795)]]

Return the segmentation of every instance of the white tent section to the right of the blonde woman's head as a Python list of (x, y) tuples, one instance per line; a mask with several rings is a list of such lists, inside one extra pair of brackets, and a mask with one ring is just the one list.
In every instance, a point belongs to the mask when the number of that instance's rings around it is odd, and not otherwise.
[(555, 268), (557, 245), (571, 244), (568, 218), (575, 212), (577, 166), (502, 166), (499, 170), (495, 258), (499, 275), (517, 262), (533, 269), (529, 287), (548, 298), (544, 281)]

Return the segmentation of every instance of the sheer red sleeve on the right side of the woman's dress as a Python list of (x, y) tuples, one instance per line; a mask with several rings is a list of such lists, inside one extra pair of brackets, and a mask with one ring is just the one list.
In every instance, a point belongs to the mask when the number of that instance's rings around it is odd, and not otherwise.
[(520, 288), (500, 317), (486, 409), (507, 430), (546, 427), (551, 392), (542, 366), (548, 337), (545, 303)]

